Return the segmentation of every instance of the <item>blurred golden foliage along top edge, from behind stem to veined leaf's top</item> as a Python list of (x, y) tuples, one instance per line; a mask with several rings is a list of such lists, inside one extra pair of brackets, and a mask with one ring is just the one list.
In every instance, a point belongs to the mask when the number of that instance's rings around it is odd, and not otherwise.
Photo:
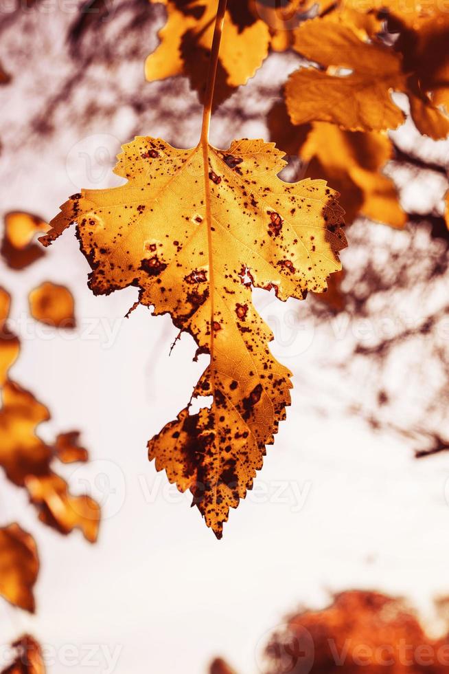
[[(209, 54), (217, 10), (215, 0), (150, 0), (166, 6), (167, 23), (161, 44), (146, 59), (146, 78), (161, 80), (185, 75), (203, 100)], [(312, 8), (321, 12), (332, 5), (323, 0), (229, 0), (218, 65), (215, 102), (219, 104), (236, 87), (246, 84), (262, 66), (270, 49), (284, 51), (292, 40), (291, 25), (307, 17)]]

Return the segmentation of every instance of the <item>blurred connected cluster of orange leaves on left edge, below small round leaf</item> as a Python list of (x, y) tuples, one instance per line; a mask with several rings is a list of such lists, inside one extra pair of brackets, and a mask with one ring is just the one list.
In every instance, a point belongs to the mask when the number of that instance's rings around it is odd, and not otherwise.
[(67, 482), (52, 470), (54, 459), (67, 463), (86, 461), (78, 446), (78, 433), (60, 434), (47, 444), (37, 434), (38, 426), (50, 419), (49, 411), (34, 395), (9, 378), (19, 356), (20, 343), (8, 328), (10, 296), (0, 289), (0, 466), (16, 486), (25, 488), (41, 521), (68, 534), (82, 530), (93, 543), (97, 538), (100, 507), (88, 496), (73, 496)]

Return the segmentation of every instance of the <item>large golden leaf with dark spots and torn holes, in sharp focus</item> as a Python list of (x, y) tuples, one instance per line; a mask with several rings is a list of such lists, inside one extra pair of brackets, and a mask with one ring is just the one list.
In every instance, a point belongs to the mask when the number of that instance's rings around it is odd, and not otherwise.
[(187, 406), (149, 455), (192, 491), (220, 537), (290, 404), (290, 373), (270, 354), (273, 335), (251, 286), (282, 300), (325, 290), (341, 268), (343, 212), (323, 180), (279, 180), (284, 153), (262, 140), (222, 151), (136, 138), (123, 150), (115, 173), (128, 183), (73, 195), (41, 240), (48, 245), (76, 222), (95, 294), (139, 287), (143, 305), (169, 313), (209, 354), (193, 397), (212, 395), (211, 406), (198, 414)]

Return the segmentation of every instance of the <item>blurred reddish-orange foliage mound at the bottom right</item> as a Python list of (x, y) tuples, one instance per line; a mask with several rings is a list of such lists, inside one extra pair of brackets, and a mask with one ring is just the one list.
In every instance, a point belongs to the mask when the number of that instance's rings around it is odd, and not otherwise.
[[(266, 646), (264, 674), (443, 674), (448, 653), (448, 637), (428, 635), (404, 600), (354, 590), (338, 594), (325, 609), (287, 618)], [(210, 674), (235, 673), (218, 659)]]

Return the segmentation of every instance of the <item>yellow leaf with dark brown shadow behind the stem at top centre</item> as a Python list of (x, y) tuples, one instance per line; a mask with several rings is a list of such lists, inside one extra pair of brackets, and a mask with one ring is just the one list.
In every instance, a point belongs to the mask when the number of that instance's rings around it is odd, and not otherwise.
[[(151, 0), (156, 2), (159, 0)], [(159, 33), (161, 44), (145, 65), (150, 82), (187, 76), (203, 100), (217, 3), (214, 0), (165, 0), (168, 19)], [(218, 65), (216, 103), (244, 85), (268, 55), (270, 32), (251, 10), (253, 3), (229, 0)]]

